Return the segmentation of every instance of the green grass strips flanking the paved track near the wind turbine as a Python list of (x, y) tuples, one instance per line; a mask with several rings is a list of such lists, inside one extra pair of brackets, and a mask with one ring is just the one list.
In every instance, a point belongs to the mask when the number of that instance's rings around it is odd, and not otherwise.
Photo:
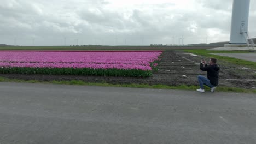
[(221, 61), (241, 65), (243, 67), (249, 67), (252, 69), (256, 69), (256, 62), (251, 62), (251, 61), (246, 61), (243, 59), (237, 59), (237, 58), (232, 58), (232, 57), (225, 57), (225, 56), (218, 56), (218, 55), (213, 55), (210, 53), (249, 53), (249, 51), (209, 51), (209, 50), (184, 50), (185, 52), (190, 52), (194, 53), (196, 55), (200, 56), (205, 56), (205, 57), (214, 57), (217, 59), (220, 59)]

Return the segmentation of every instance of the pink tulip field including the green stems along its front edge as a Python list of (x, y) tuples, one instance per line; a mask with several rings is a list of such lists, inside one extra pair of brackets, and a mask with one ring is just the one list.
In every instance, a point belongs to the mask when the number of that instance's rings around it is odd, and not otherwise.
[(0, 51), (2, 74), (149, 77), (161, 51)]

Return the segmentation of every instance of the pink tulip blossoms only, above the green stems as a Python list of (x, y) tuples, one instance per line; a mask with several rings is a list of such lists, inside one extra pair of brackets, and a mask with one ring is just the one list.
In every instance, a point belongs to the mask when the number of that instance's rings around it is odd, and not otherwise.
[(161, 53), (0, 51), (0, 67), (152, 70)]

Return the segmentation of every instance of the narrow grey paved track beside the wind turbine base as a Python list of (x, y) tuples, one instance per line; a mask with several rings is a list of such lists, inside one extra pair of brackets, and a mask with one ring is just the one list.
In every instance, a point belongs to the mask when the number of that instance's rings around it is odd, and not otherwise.
[(213, 55), (234, 57), (247, 61), (256, 62), (256, 53), (212, 53)]

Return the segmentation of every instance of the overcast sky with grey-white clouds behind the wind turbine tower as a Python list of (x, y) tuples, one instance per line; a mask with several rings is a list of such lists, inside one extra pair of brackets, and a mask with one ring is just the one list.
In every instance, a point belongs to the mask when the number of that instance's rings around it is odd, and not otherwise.
[[(249, 32), (256, 37), (256, 1)], [(1, 0), (0, 44), (149, 45), (229, 41), (232, 0)], [(253, 27), (254, 24), (254, 27)], [(180, 43), (182, 43), (180, 41)]]

